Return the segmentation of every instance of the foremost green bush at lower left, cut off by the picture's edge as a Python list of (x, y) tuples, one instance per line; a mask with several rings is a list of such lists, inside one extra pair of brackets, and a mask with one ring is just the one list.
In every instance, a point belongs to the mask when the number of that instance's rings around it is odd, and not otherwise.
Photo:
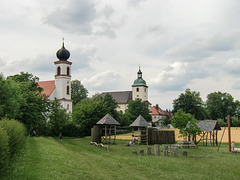
[(9, 163), (9, 136), (7, 132), (0, 126), (0, 175)]

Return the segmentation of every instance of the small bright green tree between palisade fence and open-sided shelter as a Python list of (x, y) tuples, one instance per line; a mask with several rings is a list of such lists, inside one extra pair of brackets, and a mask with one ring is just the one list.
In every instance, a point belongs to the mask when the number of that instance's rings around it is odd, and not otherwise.
[(183, 136), (188, 136), (189, 140), (190, 136), (192, 136), (195, 142), (196, 135), (201, 133), (201, 129), (197, 126), (197, 123), (198, 121), (193, 115), (183, 112), (182, 109), (178, 110), (172, 118), (172, 125), (178, 128)]

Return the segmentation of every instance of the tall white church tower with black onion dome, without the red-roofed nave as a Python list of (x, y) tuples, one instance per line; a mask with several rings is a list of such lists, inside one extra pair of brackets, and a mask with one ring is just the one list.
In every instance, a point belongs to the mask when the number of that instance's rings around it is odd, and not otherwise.
[(64, 47), (56, 53), (58, 61), (55, 61), (55, 97), (61, 102), (67, 112), (72, 112), (71, 100), (71, 65), (68, 61), (70, 52)]

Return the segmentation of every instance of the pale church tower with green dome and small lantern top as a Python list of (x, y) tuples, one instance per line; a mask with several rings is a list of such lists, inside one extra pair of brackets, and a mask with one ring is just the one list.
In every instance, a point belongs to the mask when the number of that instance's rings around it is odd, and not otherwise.
[(132, 99), (141, 99), (142, 101), (148, 101), (148, 86), (146, 81), (142, 78), (142, 71), (139, 67), (137, 73), (137, 79), (132, 85)]

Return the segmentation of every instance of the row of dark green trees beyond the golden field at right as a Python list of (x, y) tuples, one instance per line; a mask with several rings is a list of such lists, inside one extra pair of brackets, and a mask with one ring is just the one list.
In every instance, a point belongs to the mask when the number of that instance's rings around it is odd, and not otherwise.
[(197, 120), (218, 120), (221, 126), (225, 125), (227, 116), (230, 115), (231, 125), (240, 125), (240, 102), (235, 101), (229, 93), (210, 93), (204, 102), (200, 92), (186, 89), (185, 93), (181, 93), (177, 99), (173, 100), (173, 113), (180, 109), (193, 115)]

